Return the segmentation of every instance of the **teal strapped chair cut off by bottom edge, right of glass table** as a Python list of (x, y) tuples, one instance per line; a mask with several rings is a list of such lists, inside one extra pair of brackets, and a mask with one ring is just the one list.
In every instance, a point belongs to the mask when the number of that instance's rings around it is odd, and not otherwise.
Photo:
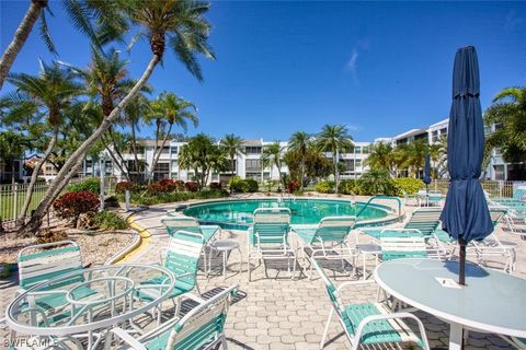
[(197, 350), (215, 349), (219, 343), (227, 349), (225, 322), (236, 290), (236, 285), (229, 287), (208, 300), (188, 294), (197, 306), (184, 317), (174, 317), (139, 338), (133, 338), (122, 328), (113, 328), (112, 332), (124, 340), (124, 349)]

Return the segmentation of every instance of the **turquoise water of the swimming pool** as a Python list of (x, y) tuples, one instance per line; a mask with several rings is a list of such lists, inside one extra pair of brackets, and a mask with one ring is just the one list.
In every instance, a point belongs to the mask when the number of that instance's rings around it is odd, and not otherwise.
[[(182, 211), (202, 223), (217, 223), (225, 229), (245, 229), (252, 223), (252, 213), (258, 208), (285, 207), (293, 214), (291, 224), (317, 224), (324, 217), (357, 215), (364, 206), (365, 202), (352, 203), (342, 199), (267, 198), (210, 201), (190, 205)], [(389, 207), (371, 203), (359, 213), (358, 221), (386, 224), (389, 214)]]

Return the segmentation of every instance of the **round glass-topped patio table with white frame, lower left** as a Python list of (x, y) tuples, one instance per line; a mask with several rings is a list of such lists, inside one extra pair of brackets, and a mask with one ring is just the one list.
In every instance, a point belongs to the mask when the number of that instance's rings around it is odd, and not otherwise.
[[(146, 284), (155, 278), (160, 284)], [(140, 332), (133, 318), (164, 301), (175, 285), (174, 275), (163, 267), (119, 264), (93, 267), (61, 275), (42, 282), (16, 296), (5, 310), (5, 322), (15, 332), (42, 337), (45, 343), (72, 341), (87, 349), (96, 348), (114, 325), (129, 324)], [(134, 295), (152, 294), (152, 301)]]

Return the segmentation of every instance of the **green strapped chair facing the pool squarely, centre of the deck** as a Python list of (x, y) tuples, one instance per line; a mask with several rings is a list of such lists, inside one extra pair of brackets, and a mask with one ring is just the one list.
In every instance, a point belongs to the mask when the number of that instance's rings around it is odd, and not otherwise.
[[(288, 272), (294, 260), (291, 277), (296, 273), (296, 249), (289, 240), (290, 209), (259, 208), (253, 213), (253, 224), (248, 235), (248, 272), (251, 280), (250, 260), (287, 259)], [(266, 266), (265, 266), (266, 273)]]

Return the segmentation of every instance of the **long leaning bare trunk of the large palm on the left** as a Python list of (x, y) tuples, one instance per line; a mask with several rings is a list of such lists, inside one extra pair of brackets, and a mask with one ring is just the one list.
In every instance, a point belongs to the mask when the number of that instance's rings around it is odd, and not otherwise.
[(75, 175), (76, 170), (82, 164), (83, 158), (91, 149), (93, 143), (101, 138), (101, 136), (112, 126), (112, 124), (118, 118), (122, 110), (128, 103), (130, 103), (139, 91), (145, 86), (146, 82), (153, 72), (156, 66), (159, 63), (160, 57), (153, 55), (150, 59), (148, 67), (146, 68), (142, 77), (136, 82), (135, 86), (128, 92), (128, 94), (113, 108), (112, 113), (104, 118), (96, 128), (96, 130), (69, 156), (68, 161), (64, 164), (60, 172), (58, 172), (55, 182), (47, 189), (44, 199), (33, 212), (31, 220), (20, 229), (21, 233), (35, 232), (42, 223), (46, 211), (49, 209), (53, 201), (58, 197), (64, 187), (68, 184), (69, 179)]

